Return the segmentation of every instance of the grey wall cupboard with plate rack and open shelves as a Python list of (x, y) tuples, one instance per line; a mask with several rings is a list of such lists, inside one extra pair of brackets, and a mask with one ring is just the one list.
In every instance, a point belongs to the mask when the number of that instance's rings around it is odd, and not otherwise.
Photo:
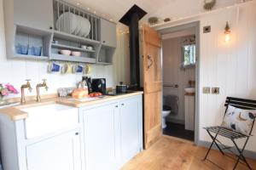
[[(111, 65), (116, 48), (116, 24), (90, 14), (62, 0), (3, 1), (7, 57), (9, 59), (49, 59)], [(74, 14), (90, 23), (84, 37), (81, 30), (70, 31), (61, 15)], [(60, 19), (60, 20), (58, 20)], [(81, 19), (78, 19), (81, 26)], [(66, 29), (63, 29), (66, 28)], [(68, 29), (67, 29), (68, 27)], [(67, 31), (68, 30), (68, 31)], [(81, 48), (82, 45), (91, 49)], [(60, 54), (61, 49), (81, 52), (81, 56)]]

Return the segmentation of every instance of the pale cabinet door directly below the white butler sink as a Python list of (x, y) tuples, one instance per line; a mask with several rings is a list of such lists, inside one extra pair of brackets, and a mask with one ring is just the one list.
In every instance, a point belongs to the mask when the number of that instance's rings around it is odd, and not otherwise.
[(79, 131), (26, 146), (27, 170), (81, 170)]

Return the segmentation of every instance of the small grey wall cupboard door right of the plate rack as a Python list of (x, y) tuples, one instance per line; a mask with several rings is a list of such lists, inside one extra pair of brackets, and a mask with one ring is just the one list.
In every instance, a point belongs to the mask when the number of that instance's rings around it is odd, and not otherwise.
[(103, 45), (116, 47), (116, 25), (114, 23), (101, 19), (101, 41)]

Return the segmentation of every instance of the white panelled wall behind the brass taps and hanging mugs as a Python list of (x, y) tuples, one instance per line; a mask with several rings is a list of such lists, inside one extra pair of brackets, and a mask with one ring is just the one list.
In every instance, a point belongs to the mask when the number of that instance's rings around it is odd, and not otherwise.
[[(107, 86), (114, 87), (119, 81), (128, 82), (129, 79), (124, 75), (126, 73), (126, 56), (128, 47), (127, 34), (118, 33), (118, 47), (113, 57), (113, 65), (92, 65), (91, 77), (107, 78)], [(47, 79), (49, 91), (42, 94), (56, 93), (56, 88), (74, 87), (76, 82), (82, 78), (81, 74), (61, 75), (47, 73), (49, 62), (35, 61), (27, 59), (6, 59), (5, 40), (4, 40), (4, 21), (3, 21), (3, 0), (0, 0), (0, 82), (10, 82), (16, 88), (25, 83), (25, 79), (32, 79), (33, 92), (26, 95), (34, 95), (36, 93), (35, 86), (38, 82), (42, 82), (43, 78)], [(129, 71), (129, 70), (128, 70)], [(123, 78), (125, 77), (125, 78)], [(10, 96), (10, 97), (18, 97)]]

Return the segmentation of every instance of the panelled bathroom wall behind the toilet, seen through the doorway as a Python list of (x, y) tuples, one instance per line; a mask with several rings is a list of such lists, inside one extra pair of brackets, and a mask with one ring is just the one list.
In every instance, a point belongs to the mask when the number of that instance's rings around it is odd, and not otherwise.
[[(195, 33), (195, 32), (194, 32)], [(184, 35), (183, 35), (184, 36)], [(189, 87), (189, 80), (195, 81), (195, 67), (181, 70), (182, 38), (174, 37), (162, 42), (163, 84), (177, 84), (178, 88), (163, 88), (163, 95), (177, 95), (179, 108), (177, 115), (168, 116), (172, 122), (184, 123), (184, 88)]]

